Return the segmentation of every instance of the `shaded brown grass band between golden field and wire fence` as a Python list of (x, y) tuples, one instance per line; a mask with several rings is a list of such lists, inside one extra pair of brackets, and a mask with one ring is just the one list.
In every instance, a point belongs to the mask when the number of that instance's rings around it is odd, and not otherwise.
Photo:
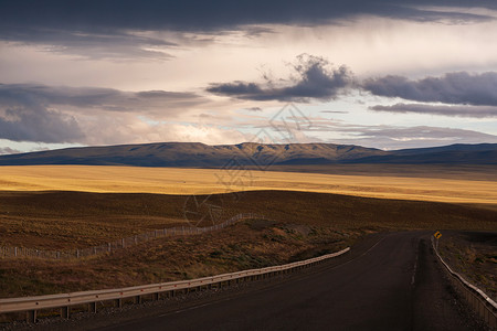
[[(208, 196), (197, 197), (201, 202)], [(497, 222), (497, 211), (470, 205), (329, 193), (248, 191), (212, 195), (207, 203), (219, 207), (219, 222), (256, 213), (278, 222), (338, 229), (493, 229)], [(184, 225), (184, 209), (194, 209), (186, 195), (4, 191), (0, 192), (0, 246), (86, 248)]]

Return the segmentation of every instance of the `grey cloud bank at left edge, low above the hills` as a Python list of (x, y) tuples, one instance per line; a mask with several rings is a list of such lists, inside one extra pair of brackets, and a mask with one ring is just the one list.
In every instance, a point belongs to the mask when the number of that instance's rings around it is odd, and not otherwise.
[[(0, 139), (78, 142), (85, 139), (85, 135), (71, 111), (83, 115), (103, 110), (175, 114), (203, 102), (191, 93), (129, 93), (112, 88), (0, 84)], [(71, 111), (65, 111), (68, 109)]]

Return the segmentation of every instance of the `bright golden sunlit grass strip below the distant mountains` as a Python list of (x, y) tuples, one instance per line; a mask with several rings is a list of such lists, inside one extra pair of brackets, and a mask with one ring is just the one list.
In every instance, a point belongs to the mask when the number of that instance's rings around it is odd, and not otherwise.
[(288, 190), (346, 195), (497, 205), (497, 181), (256, 170), (108, 166), (0, 167), (0, 191), (210, 194)]

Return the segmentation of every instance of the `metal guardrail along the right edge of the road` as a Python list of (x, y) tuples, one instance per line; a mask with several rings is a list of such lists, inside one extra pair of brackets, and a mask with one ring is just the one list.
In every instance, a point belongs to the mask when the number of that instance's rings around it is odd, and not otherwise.
[(478, 313), (491, 330), (497, 330), (497, 303), (488, 297), (483, 290), (464, 279), (463, 276), (455, 273), (440, 256), (432, 237), (432, 246), (442, 265), (445, 267), (450, 279), (456, 290), (467, 300), (469, 306)]

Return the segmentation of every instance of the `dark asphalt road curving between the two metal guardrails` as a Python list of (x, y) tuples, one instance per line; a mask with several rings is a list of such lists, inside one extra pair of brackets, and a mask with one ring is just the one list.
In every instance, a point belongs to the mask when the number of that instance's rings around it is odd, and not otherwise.
[(443, 278), (429, 236), (388, 234), (271, 286), (110, 319), (98, 330), (477, 330)]

